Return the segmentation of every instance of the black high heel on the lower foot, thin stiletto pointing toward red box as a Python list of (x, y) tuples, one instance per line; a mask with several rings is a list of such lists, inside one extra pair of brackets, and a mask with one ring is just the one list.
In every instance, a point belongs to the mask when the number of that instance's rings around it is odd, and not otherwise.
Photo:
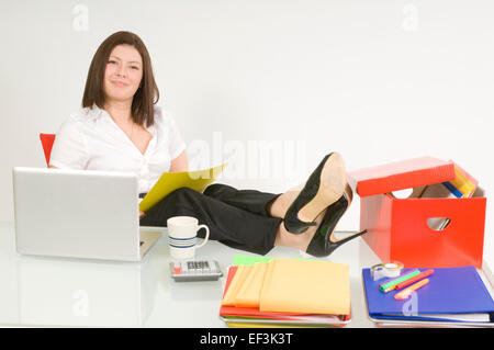
[(327, 257), (336, 248), (367, 233), (367, 229), (364, 229), (358, 234), (355, 234), (353, 236), (339, 240), (336, 240), (333, 237), (336, 224), (338, 224), (339, 219), (345, 214), (350, 203), (351, 192), (350, 194), (347, 194), (347, 192), (345, 192), (337, 202), (327, 207), (326, 214), (324, 215), (319, 227), (317, 228), (314, 237), (308, 244), (307, 250), (305, 251), (306, 253), (314, 257)]

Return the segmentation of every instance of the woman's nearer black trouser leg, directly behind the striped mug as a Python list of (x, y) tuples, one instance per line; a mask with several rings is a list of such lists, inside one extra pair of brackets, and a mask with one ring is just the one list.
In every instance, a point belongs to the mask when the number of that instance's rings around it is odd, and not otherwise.
[[(261, 201), (256, 205), (260, 207)], [(200, 224), (207, 225), (211, 239), (260, 255), (273, 248), (282, 226), (280, 218), (257, 215), (187, 188), (167, 195), (146, 213), (141, 225), (165, 227), (169, 217), (180, 215), (197, 217)]]

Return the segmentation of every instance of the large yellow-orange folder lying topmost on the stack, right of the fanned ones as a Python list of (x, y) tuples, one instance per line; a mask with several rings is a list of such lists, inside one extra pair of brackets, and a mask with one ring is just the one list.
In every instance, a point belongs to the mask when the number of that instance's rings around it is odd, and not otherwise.
[(259, 309), (349, 315), (349, 267), (319, 260), (273, 259), (268, 263)]

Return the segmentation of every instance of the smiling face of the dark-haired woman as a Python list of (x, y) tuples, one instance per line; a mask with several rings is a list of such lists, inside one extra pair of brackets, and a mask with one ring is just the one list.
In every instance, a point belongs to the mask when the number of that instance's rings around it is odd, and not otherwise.
[(143, 59), (131, 45), (117, 45), (110, 53), (104, 70), (105, 101), (133, 99), (143, 79)]

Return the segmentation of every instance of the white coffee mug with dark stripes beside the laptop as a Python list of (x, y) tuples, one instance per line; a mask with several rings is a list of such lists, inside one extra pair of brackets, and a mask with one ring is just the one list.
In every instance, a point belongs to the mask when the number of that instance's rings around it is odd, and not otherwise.
[[(170, 256), (173, 259), (193, 258), (195, 249), (203, 247), (210, 238), (210, 228), (206, 225), (199, 225), (199, 221), (192, 216), (170, 217), (167, 227)], [(195, 237), (201, 228), (206, 230), (204, 241), (195, 245)]]

